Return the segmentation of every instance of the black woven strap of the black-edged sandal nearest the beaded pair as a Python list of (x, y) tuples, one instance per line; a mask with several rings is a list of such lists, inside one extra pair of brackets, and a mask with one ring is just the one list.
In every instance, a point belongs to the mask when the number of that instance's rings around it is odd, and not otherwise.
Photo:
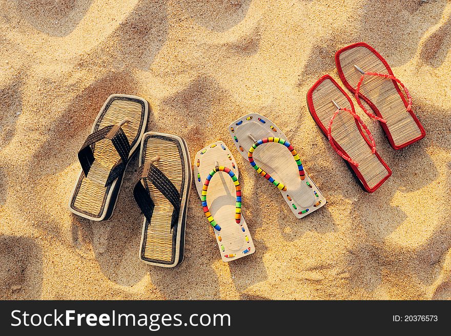
[(175, 185), (163, 174), (152, 162), (141, 165), (137, 171), (137, 179), (133, 188), (133, 196), (142, 213), (151, 221), (154, 202), (149, 194), (148, 181), (150, 181), (158, 191), (171, 202), (174, 210), (171, 218), (171, 230), (178, 223), (180, 213), (180, 193)]

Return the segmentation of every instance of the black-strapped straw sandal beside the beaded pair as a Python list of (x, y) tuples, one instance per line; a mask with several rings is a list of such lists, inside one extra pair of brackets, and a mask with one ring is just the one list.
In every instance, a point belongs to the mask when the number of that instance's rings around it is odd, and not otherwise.
[(190, 189), (190, 154), (185, 140), (172, 134), (144, 134), (133, 189), (144, 214), (141, 261), (161, 267), (183, 261)]

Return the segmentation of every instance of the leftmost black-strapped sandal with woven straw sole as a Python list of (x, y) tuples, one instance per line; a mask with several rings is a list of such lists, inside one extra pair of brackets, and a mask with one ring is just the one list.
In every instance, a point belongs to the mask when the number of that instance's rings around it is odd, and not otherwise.
[(72, 191), (69, 210), (93, 221), (111, 217), (122, 177), (146, 131), (147, 100), (113, 94), (100, 109), (78, 152), (81, 172)]

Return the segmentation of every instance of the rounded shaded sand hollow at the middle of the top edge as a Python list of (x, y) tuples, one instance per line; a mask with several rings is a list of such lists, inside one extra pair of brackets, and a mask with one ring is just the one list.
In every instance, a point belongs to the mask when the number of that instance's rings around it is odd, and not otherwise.
[(182, 0), (178, 6), (195, 22), (207, 29), (223, 32), (236, 25), (246, 16), (252, 0), (210, 0), (207, 4)]

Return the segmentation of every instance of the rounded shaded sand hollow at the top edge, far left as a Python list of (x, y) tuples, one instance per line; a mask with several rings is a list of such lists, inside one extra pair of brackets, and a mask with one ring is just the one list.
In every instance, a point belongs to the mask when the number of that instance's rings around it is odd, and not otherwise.
[(85, 16), (92, 0), (15, 0), (15, 10), (36, 30), (67, 36)]

